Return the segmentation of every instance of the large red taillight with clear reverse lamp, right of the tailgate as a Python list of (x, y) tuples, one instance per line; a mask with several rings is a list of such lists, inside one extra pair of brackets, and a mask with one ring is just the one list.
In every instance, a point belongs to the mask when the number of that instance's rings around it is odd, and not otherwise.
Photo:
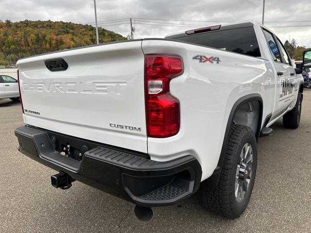
[(170, 137), (180, 126), (179, 101), (170, 94), (170, 81), (183, 73), (178, 56), (145, 55), (147, 136)]

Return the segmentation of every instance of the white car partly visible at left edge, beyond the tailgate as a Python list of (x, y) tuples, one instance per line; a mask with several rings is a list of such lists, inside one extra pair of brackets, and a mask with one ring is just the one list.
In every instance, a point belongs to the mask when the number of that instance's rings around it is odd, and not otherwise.
[(17, 79), (7, 74), (0, 74), (0, 99), (19, 100)]

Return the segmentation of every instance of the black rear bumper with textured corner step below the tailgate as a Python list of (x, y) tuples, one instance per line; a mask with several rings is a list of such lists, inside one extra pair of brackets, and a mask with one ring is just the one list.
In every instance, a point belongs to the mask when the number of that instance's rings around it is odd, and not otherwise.
[[(157, 162), (148, 154), (32, 126), (18, 127), (15, 135), (18, 150), (35, 161), (141, 206), (174, 204), (189, 197), (200, 185), (201, 166), (191, 155)], [(81, 151), (83, 146), (89, 150), (79, 161), (60, 154), (60, 147), (66, 143)]]

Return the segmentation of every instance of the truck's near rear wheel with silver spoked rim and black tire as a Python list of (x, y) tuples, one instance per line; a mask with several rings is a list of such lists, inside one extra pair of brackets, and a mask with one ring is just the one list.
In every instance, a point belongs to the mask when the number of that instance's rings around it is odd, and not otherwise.
[(215, 188), (201, 187), (203, 203), (217, 215), (236, 218), (245, 210), (254, 186), (257, 145), (250, 127), (232, 125), (220, 180)]

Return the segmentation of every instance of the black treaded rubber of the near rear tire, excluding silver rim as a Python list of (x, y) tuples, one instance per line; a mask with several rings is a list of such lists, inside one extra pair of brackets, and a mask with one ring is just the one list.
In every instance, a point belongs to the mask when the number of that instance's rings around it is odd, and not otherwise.
[[(240, 163), (240, 154), (244, 145), (249, 143), (253, 150), (252, 175), (244, 198), (238, 201), (236, 190), (236, 172)], [(247, 144), (248, 145), (248, 144)], [(216, 215), (236, 218), (245, 210), (254, 186), (257, 166), (256, 137), (251, 128), (243, 125), (232, 125), (225, 151), (225, 159), (221, 170), (220, 180), (215, 188), (201, 186), (201, 195), (207, 209)], [(240, 174), (240, 172), (239, 172)], [(246, 173), (247, 174), (247, 173)]]

